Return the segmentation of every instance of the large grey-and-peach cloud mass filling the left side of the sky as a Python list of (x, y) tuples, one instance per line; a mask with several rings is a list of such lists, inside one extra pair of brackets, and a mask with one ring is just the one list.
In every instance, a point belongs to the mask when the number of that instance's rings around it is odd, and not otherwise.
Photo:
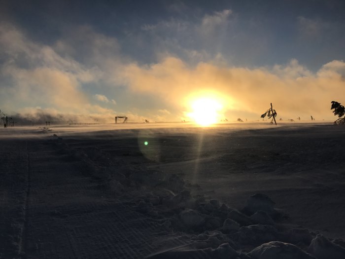
[[(116, 66), (107, 62), (107, 58), (104, 58), (102, 62), (101, 56), (108, 53), (107, 57), (111, 57), (109, 49), (113, 47), (115, 41), (92, 34), (90, 29), (84, 29), (84, 31), (98, 37), (94, 41), (90, 38), (88, 42), (93, 47), (98, 46), (93, 49), (92, 54), (95, 62), (106, 64), (104, 66), (109, 70), (114, 69)], [(64, 45), (67, 49), (69, 44), (67, 41), (59, 41), (58, 45), (60, 48)], [(4, 61), (0, 66), (2, 79), (0, 90), (3, 93), (0, 96), (0, 102), (7, 111), (42, 107), (43, 111), (56, 109), (60, 112), (79, 114), (91, 113), (95, 110), (104, 112), (102, 108), (92, 104), (92, 99), (83, 87), (84, 84), (97, 85), (104, 81), (112, 82), (112, 76), (116, 73), (104, 75), (105, 69), (99, 67), (97, 63), (80, 63), (72, 57), (72, 54), (68, 55), (68, 51), (64, 55), (59, 54), (61, 49), (34, 42), (20, 29), (8, 23), (0, 23), (0, 47), (2, 49), (0, 55)], [(101, 55), (106, 47), (109, 49)], [(101, 95), (96, 99), (109, 102), (105, 96)]]

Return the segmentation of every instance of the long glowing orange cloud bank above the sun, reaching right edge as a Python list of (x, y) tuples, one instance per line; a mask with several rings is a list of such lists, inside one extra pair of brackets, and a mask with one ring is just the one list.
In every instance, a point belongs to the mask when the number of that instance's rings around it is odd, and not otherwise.
[(205, 62), (190, 67), (181, 59), (168, 57), (150, 66), (131, 64), (125, 76), (133, 91), (163, 98), (180, 111), (188, 111), (191, 100), (208, 96), (221, 101), (229, 116), (247, 112), (259, 118), (272, 102), (279, 116), (285, 118), (309, 118), (313, 114), (331, 119), (330, 102), (345, 95), (345, 81), (340, 74), (344, 66), (343, 61), (332, 61), (318, 73), (311, 73), (294, 59), (272, 69)]

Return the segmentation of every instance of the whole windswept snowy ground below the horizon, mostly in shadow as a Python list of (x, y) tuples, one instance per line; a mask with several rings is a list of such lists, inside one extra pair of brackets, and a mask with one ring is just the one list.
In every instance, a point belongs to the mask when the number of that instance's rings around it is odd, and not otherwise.
[(344, 137), (331, 123), (0, 129), (0, 258), (345, 258)]

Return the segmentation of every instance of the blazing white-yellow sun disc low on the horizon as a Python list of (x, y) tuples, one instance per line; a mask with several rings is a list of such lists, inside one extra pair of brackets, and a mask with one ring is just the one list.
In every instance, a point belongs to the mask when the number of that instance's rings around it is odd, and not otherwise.
[(199, 125), (209, 126), (218, 121), (222, 105), (215, 99), (200, 98), (191, 103), (191, 108), (189, 117)]

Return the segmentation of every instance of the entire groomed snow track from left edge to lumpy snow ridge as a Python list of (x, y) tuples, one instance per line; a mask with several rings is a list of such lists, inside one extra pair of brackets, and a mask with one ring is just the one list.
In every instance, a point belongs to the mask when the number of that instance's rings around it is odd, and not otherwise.
[[(1, 215), (2, 233), (10, 236), (1, 237), (4, 258), (143, 258), (185, 244), (177, 235), (169, 239), (159, 222), (128, 202), (111, 197), (100, 181), (80, 172), (82, 162), (57, 156), (51, 143), (14, 141), (11, 150), (1, 150), (1, 175), (7, 176), (2, 185), (10, 186), (2, 188), (7, 200), (1, 208), (10, 207)], [(12, 240), (17, 245), (6, 244)]]

